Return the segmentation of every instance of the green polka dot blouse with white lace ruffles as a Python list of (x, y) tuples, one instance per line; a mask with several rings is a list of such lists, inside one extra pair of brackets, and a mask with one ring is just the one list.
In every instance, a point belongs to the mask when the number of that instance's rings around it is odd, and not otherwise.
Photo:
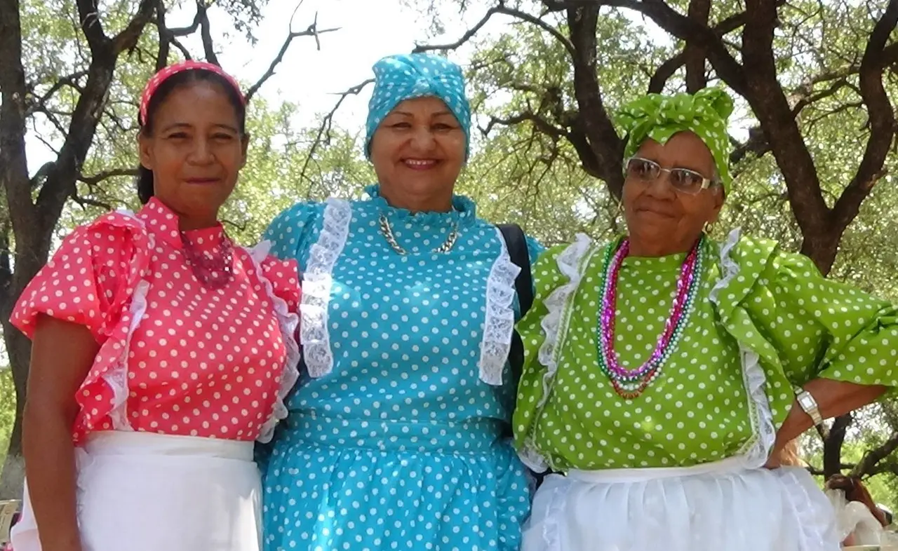
[[(619, 397), (596, 349), (603, 253), (619, 243), (579, 236), (534, 267), (515, 410), (515, 443), (534, 467), (689, 467), (745, 454), (759, 439), (766, 452), (807, 380), (898, 385), (891, 304), (734, 232), (723, 245), (706, 241), (696, 308), (660, 377), (638, 398)], [(624, 260), (615, 337), (624, 365), (655, 347), (684, 257)]]

